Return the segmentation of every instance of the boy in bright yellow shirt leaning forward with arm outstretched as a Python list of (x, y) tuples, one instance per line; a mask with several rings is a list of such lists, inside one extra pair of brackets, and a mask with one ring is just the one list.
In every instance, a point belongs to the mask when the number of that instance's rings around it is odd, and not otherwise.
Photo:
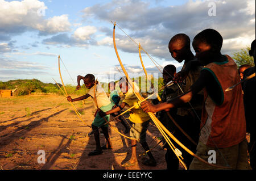
[[(133, 88), (128, 86), (127, 78), (122, 77), (119, 80), (119, 87), (123, 94), (125, 94), (125, 99), (123, 100), (122, 104), (116, 108), (113, 108), (113, 110), (106, 111), (106, 112), (100, 112), (101, 116), (109, 115), (114, 112), (121, 111), (125, 106), (132, 107), (134, 104), (137, 104), (138, 98), (133, 93)], [(135, 82), (133, 82), (134, 85), (136, 85)], [(130, 89), (129, 89), (130, 87)], [(136, 155), (136, 145), (137, 141), (142, 144), (142, 147), (144, 150), (149, 150), (147, 142), (146, 142), (146, 131), (148, 128), (148, 123), (150, 121), (150, 116), (147, 113), (144, 113), (139, 106), (134, 107), (130, 111), (130, 121), (132, 121), (134, 124), (132, 125), (130, 129), (130, 137), (134, 138), (134, 140), (131, 140), (131, 158), (129, 161), (124, 163), (122, 167), (129, 167), (134, 166), (138, 164), (137, 155)], [(147, 153), (148, 157), (150, 159), (146, 159), (146, 161), (143, 162), (144, 165), (147, 166), (156, 166), (155, 158), (153, 157), (151, 151), (148, 151)]]

